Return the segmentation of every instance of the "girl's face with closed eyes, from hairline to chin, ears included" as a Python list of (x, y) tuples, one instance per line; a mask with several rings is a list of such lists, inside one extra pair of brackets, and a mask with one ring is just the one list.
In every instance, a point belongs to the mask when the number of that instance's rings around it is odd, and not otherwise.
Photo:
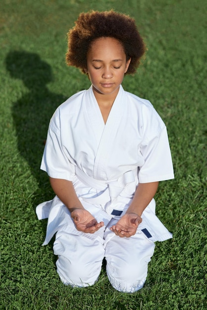
[(87, 55), (87, 70), (95, 96), (116, 96), (130, 63), (121, 43), (114, 38), (99, 38)]

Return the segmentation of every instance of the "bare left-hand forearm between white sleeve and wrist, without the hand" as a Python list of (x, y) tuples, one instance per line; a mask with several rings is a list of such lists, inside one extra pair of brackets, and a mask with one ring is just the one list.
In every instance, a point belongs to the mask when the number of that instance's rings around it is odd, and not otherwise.
[(72, 182), (50, 177), (54, 193), (63, 204), (72, 212), (75, 208), (84, 209), (74, 190)]

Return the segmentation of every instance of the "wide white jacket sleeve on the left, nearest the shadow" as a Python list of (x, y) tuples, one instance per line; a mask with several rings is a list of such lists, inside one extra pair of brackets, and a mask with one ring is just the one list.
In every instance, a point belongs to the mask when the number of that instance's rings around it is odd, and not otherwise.
[(42, 170), (56, 179), (72, 181), (75, 175), (75, 166), (64, 152), (61, 145), (60, 115), (57, 109), (50, 121), (47, 141), (41, 162)]

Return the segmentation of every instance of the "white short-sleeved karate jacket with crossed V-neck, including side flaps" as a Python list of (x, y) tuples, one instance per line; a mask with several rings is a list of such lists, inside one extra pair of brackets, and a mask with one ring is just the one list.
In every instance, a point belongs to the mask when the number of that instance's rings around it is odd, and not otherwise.
[[(108, 217), (126, 212), (139, 182), (174, 178), (165, 124), (149, 101), (125, 92), (122, 86), (105, 124), (92, 87), (56, 109), (41, 169), (52, 178), (71, 181), (86, 209), (99, 207)], [(37, 207), (40, 219), (57, 212), (62, 203), (55, 201)], [(154, 199), (142, 218), (139, 229), (152, 241), (172, 237), (155, 215)]]

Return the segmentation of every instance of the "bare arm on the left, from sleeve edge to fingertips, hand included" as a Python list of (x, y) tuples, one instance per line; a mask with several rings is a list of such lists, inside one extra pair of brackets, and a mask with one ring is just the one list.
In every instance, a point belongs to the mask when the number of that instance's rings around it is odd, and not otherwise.
[(104, 226), (104, 222), (98, 223), (93, 215), (84, 209), (76, 195), (72, 182), (51, 177), (50, 182), (54, 193), (71, 212), (77, 230), (94, 233)]

